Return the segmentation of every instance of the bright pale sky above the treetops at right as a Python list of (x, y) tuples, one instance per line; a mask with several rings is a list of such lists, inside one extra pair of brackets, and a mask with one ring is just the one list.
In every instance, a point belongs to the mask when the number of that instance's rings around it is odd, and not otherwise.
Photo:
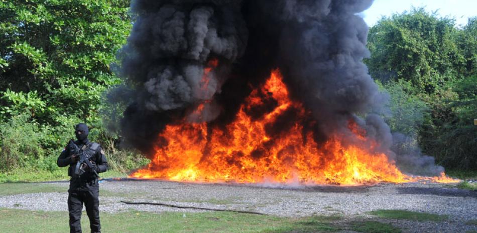
[(402, 13), (412, 7), (424, 7), (427, 12), (455, 18), (455, 24), (465, 26), (469, 17), (477, 16), (477, 0), (375, 0), (373, 5), (360, 15), (372, 27), (381, 16)]

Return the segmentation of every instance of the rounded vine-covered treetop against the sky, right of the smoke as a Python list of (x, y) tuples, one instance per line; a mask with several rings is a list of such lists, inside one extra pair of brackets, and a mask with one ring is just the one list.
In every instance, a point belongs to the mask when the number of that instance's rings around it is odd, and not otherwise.
[[(419, 92), (433, 93), (462, 78), (467, 58), (457, 43), (454, 20), (438, 18), (423, 8), (390, 18), (370, 29), (367, 63), (375, 79), (408, 80)], [(460, 47), (459, 47), (460, 46)]]

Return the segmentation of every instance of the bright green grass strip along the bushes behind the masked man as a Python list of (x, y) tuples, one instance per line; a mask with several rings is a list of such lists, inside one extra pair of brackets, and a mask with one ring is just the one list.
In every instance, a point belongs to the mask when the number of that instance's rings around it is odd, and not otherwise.
[[(101, 178), (111, 177), (127, 177), (128, 174), (115, 170), (108, 170), (100, 173)], [(61, 167), (54, 171), (48, 170), (29, 170), (17, 169), (14, 171), (0, 173), (0, 183), (5, 182), (42, 182), (42, 181), (56, 181), (69, 180), (67, 167)]]

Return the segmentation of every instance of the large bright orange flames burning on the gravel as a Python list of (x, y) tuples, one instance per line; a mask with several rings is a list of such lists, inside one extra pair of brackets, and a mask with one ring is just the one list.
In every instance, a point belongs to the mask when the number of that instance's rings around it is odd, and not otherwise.
[[(204, 71), (204, 89), (209, 72), (208, 68)], [(203, 107), (200, 104), (192, 114), (200, 115)], [(159, 135), (151, 163), (130, 177), (341, 185), (418, 179), (455, 182), (443, 173), (440, 177), (403, 174), (386, 154), (374, 152), (377, 143), (352, 120), (346, 135), (335, 133), (318, 144), (310, 130), (314, 124), (310, 114), (301, 103), (290, 99), (280, 71), (274, 70), (226, 127), (187, 120), (167, 125)], [(286, 121), (290, 118), (292, 123)]]

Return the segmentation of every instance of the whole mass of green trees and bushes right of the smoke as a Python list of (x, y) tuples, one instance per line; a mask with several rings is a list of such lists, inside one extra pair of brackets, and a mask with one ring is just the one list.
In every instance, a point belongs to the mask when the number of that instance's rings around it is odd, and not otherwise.
[(477, 18), (462, 29), (423, 8), (383, 17), (369, 32), (373, 78), (390, 94), (395, 132), (446, 168), (477, 167)]

